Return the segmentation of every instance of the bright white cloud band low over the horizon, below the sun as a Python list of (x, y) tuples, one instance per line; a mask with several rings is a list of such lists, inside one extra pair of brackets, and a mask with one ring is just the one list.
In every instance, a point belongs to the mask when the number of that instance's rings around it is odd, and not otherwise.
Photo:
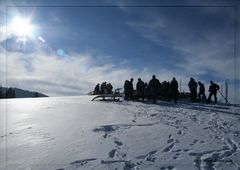
[[(124, 80), (138, 77), (149, 82), (153, 74), (163, 80), (170, 80), (174, 75), (169, 70), (161, 69), (152, 72), (147, 67), (137, 70), (119, 63), (113, 63), (108, 56), (105, 63), (100, 60), (104, 56), (70, 52), (69, 57), (59, 57), (57, 53), (38, 51), (25, 55), (22, 52), (9, 51), (6, 56), (1, 53), (1, 84), (4, 84), (7, 71), (9, 86), (37, 90), (50, 96), (80, 95), (93, 90), (97, 83), (111, 82), (115, 88), (123, 87)], [(123, 61), (123, 63), (125, 63)]]

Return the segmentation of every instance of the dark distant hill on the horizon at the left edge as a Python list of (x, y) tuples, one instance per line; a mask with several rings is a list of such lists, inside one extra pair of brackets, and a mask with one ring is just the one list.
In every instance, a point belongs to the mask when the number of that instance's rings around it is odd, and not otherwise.
[[(6, 96), (6, 94), (5, 94), (6, 89), (7, 89), (6, 87), (1, 87), (1, 92), (3, 93), (4, 96)], [(15, 87), (11, 88), (11, 89), (15, 92), (15, 97), (13, 97), (13, 98), (48, 97), (47, 95), (36, 92), (36, 91), (23, 90), (23, 89), (19, 89), (19, 88), (15, 88)]]

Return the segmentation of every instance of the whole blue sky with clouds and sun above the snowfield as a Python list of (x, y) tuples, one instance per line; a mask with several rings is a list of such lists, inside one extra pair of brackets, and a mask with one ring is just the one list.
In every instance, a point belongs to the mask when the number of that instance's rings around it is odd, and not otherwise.
[[(240, 103), (237, 1), (1, 1), (0, 84), (50, 96), (152, 75), (222, 87)], [(24, 18), (28, 27), (16, 22)], [(14, 24), (15, 23), (15, 24)], [(17, 23), (17, 24), (16, 24)], [(27, 31), (26, 31), (27, 30)]]

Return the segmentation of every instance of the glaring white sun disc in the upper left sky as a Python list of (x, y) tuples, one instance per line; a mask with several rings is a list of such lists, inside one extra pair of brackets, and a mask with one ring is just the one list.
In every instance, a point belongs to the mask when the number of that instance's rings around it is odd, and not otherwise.
[(11, 33), (20, 39), (30, 37), (33, 33), (33, 28), (30, 18), (15, 17), (10, 24)]

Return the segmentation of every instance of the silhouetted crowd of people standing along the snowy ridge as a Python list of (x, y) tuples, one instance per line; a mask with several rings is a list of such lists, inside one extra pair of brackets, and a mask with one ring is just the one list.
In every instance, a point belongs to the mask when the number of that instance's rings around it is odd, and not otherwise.
[[(141, 78), (138, 78), (136, 83), (136, 88), (133, 86), (134, 79), (125, 80), (124, 83), (124, 99), (125, 100), (141, 100), (145, 99), (152, 100), (153, 103), (156, 103), (158, 99), (160, 100), (173, 100), (177, 103), (179, 98), (178, 90), (178, 81), (175, 77), (172, 78), (170, 82), (163, 81), (162, 83), (156, 78), (155, 75), (152, 76), (152, 79), (147, 82), (143, 82)], [(212, 102), (211, 98), (214, 96), (214, 101), (217, 103), (217, 91), (220, 89), (219, 85), (210, 81), (209, 86), (209, 96), (206, 98), (205, 95), (205, 86), (202, 82), (196, 82), (194, 78), (190, 78), (188, 83), (191, 102), (203, 102), (210, 103)], [(197, 88), (199, 87), (199, 90)], [(97, 84), (95, 86), (93, 94), (113, 94), (113, 86), (111, 83), (103, 82), (101, 85)]]

